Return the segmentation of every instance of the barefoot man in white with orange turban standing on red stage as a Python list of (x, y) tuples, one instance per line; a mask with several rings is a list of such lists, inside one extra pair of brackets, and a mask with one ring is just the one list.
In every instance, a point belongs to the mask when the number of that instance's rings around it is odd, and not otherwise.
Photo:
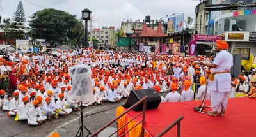
[(213, 63), (199, 62), (199, 64), (214, 68), (209, 76), (209, 85), (211, 87), (211, 106), (213, 112), (208, 115), (213, 117), (224, 117), (228, 103), (228, 92), (231, 89), (230, 69), (233, 66), (232, 54), (227, 52), (228, 44), (226, 41), (216, 40), (216, 52), (218, 53)]

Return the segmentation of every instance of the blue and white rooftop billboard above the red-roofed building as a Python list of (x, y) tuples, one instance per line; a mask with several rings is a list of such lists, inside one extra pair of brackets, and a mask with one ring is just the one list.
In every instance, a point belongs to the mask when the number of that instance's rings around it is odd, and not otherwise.
[(168, 18), (167, 32), (180, 32), (183, 31), (184, 14), (175, 15)]

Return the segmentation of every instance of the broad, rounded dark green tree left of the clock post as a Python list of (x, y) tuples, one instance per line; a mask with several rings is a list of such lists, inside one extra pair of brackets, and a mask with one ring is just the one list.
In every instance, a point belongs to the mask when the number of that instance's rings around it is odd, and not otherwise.
[(31, 15), (31, 21), (29, 21), (29, 25), (33, 29), (33, 39), (42, 38), (50, 42), (51, 45), (68, 43), (72, 29), (79, 22), (75, 17), (76, 15), (70, 15), (54, 8), (36, 11)]

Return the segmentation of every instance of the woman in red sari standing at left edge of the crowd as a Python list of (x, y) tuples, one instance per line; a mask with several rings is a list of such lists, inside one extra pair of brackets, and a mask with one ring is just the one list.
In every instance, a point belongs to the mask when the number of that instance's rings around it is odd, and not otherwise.
[(9, 89), (15, 89), (17, 87), (17, 68), (15, 67), (15, 63), (12, 62), (10, 71), (10, 79), (9, 79)]

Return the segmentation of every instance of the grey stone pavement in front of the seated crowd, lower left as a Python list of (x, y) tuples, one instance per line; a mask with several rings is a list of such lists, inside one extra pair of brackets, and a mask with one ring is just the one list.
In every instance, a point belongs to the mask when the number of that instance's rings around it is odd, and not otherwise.
[[(161, 96), (166, 96), (166, 93), (161, 94)], [(103, 106), (98, 105), (84, 108), (84, 126), (91, 133), (97, 131), (97, 129), (115, 118), (116, 108), (122, 104), (124, 104), (124, 101), (120, 103), (104, 103)], [(56, 131), (61, 137), (70, 137), (76, 135), (81, 122), (80, 112), (72, 112), (68, 117), (47, 120), (39, 126), (30, 126), (26, 121), (15, 122), (15, 117), (6, 117), (6, 113), (0, 110), (0, 137), (45, 137), (49, 136), (53, 131)], [(116, 123), (113, 123), (110, 127), (116, 128)], [(113, 128), (111, 130), (113, 131)], [(88, 133), (84, 131), (84, 134)]]

